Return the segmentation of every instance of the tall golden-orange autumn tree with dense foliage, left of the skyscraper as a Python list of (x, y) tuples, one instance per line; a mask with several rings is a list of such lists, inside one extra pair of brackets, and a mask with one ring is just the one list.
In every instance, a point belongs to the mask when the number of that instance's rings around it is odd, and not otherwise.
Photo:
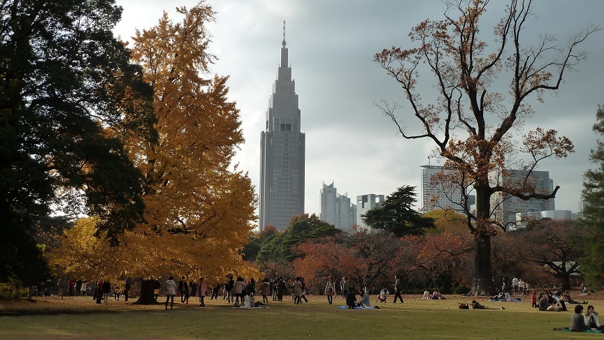
[(125, 233), (120, 248), (143, 277), (164, 268), (213, 281), (229, 272), (257, 277), (240, 255), (256, 198), (247, 172), (231, 163), (243, 143), (239, 110), (227, 98), (228, 77), (208, 77), (215, 57), (206, 22), (215, 13), (203, 1), (176, 10), (182, 22), (164, 13), (134, 37), (132, 59), (154, 88), (158, 141), (128, 144), (148, 191), (145, 223)]

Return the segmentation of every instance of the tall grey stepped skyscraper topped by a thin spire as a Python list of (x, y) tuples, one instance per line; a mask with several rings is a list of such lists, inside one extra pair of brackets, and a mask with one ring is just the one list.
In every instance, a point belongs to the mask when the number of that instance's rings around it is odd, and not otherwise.
[(268, 225), (283, 230), (292, 216), (304, 213), (305, 135), (300, 132), (296, 84), (287, 62), (285, 20), (280, 61), (260, 134), (260, 231)]

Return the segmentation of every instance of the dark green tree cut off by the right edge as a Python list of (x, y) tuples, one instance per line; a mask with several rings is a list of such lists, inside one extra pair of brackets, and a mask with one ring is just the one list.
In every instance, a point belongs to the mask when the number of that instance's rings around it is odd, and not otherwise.
[[(604, 108), (600, 105), (592, 130), (604, 135)], [(604, 142), (596, 140), (596, 149), (591, 149), (589, 159), (596, 168), (587, 170), (583, 177), (582, 196), (587, 204), (580, 225), (590, 237), (584, 245), (587, 256), (581, 261), (581, 271), (592, 286), (604, 286)]]

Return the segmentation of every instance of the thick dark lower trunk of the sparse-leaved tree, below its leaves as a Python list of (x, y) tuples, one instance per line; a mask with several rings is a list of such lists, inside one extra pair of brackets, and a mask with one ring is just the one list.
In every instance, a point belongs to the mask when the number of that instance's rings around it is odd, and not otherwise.
[(495, 295), (491, 269), (491, 235), (477, 233), (474, 236), (474, 278), (470, 295)]

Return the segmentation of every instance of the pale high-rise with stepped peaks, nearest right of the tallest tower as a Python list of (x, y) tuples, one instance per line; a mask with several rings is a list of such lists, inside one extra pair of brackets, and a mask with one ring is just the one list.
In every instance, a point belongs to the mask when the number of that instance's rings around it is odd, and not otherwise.
[(338, 194), (338, 189), (331, 184), (323, 183), (319, 201), (321, 202), (321, 214), (319, 219), (333, 224), (336, 228), (349, 230), (357, 222), (356, 207), (350, 205), (348, 194)]

